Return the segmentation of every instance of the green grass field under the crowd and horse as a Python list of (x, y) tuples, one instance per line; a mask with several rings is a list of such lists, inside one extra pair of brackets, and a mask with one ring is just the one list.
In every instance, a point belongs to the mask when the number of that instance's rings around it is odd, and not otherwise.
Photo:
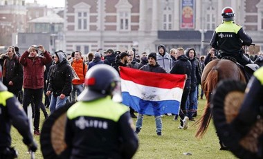
[[(203, 113), (206, 100), (199, 100), (197, 118)], [(44, 116), (42, 114), (41, 121)], [(163, 135), (156, 135), (155, 119), (153, 116), (145, 115), (143, 129), (138, 134), (139, 148), (134, 158), (235, 158), (229, 151), (219, 151), (219, 140), (212, 123), (203, 139), (194, 138), (197, 127), (188, 127), (187, 130), (178, 129), (179, 120), (173, 121), (172, 116), (163, 116)], [(134, 124), (136, 119), (134, 119)], [(194, 122), (189, 122), (191, 126)], [(42, 125), (42, 123), (41, 123)], [(39, 136), (34, 135), (39, 143)], [(21, 135), (12, 128), (12, 147), (19, 151), (19, 158), (30, 158), (26, 153), (26, 146), (22, 142)], [(183, 153), (191, 153), (186, 156)], [(39, 149), (35, 158), (43, 158)]]

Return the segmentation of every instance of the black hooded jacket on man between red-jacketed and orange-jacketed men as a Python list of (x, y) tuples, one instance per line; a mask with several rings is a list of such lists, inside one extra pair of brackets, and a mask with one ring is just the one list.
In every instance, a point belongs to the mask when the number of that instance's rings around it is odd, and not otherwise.
[(53, 92), (55, 97), (64, 94), (69, 96), (72, 91), (72, 70), (71, 66), (64, 60), (54, 64), (50, 70), (48, 91)]

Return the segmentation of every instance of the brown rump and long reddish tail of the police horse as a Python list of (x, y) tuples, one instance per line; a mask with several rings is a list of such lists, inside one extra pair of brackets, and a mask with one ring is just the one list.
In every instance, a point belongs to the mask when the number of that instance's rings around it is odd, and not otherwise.
[(203, 69), (201, 85), (203, 93), (206, 95), (206, 107), (201, 118), (195, 123), (199, 124), (195, 137), (202, 138), (208, 129), (212, 118), (210, 109), (210, 97), (212, 91), (216, 88), (217, 83), (223, 79), (235, 79), (240, 82), (246, 82), (243, 71), (235, 62), (228, 59), (215, 59), (209, 62)]

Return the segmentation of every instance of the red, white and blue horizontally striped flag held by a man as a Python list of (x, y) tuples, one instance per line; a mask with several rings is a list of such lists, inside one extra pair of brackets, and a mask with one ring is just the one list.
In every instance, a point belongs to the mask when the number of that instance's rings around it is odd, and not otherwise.
[(123, 104), (145, 115), (179, 114), (185, 75), (120, 67)]

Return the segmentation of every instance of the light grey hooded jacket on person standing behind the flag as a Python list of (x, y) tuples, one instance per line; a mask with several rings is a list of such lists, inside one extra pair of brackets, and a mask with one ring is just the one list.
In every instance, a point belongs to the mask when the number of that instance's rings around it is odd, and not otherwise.
[[(164, 50), (163, 55), (159, 53), (159, 48), (161, 47)], [(164, 45), (159, 45), (157, 50), (158, 50), (158, 53), (157, 53), (158, 64), (160, 64), (160, 66), (163, 67), (167, 73), (169, 73), (172, 68), (172, 58), (170, 57), (168, 53), (166, 53), (166, 48)]]

